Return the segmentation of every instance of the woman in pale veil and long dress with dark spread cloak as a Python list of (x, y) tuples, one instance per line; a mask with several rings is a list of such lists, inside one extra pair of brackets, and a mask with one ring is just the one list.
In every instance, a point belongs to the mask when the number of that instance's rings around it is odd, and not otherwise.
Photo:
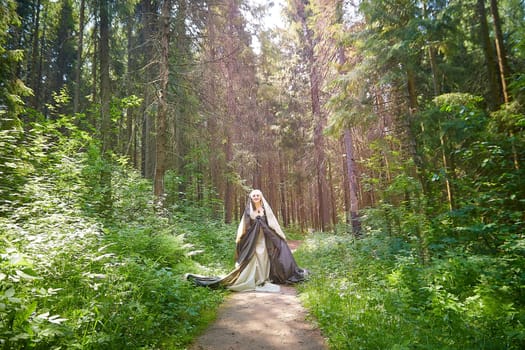
[(307, 270), (297, 266), (262, 192), (253, 190), (237, 229), (235, 269), (223, 278), (192, 274), (187, 278), (197, 285), (224, 286), (236, 292), (278, 292), (277, 284), (300, 282), (307, 274)]

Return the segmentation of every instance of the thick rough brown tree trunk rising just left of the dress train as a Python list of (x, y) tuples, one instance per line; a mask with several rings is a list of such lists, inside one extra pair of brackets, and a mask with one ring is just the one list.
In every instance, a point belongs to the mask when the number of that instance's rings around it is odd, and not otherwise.
[(168, 119), (168, 80), (169, 80), (169, 34), (170, 34), (170, 13), (171, 0), (162, 2), (160, 15), (160, 62), (159, 80), (160, 87), (158, 94), (158, 114), (157, 114), (157, 147), (155, 176), (153, 181), (153, 193), (157, 205), (163, 204), (164, 197), (164, 174), (166, 172), (166, 131)]

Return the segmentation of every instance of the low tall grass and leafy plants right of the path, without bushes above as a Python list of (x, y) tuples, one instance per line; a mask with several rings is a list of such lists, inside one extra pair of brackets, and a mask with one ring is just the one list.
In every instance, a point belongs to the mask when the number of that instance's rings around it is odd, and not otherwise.
[(421, 265), (402, 240), (380, 234), (316, 234), (297, 257), (313, 272), (301, 297), (332, 349), (525, 346), (520, 287), (498, 280), (523, 261), (449, 252)]

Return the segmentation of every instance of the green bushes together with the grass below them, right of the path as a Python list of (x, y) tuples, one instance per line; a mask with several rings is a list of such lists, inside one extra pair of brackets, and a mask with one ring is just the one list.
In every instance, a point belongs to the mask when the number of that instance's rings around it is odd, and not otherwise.
[(333, 348), (525, 346), (523, 108), (482, 102), (446, 94), (421, 113), (417, 177), (396, 140), (373, 144), (363, 239), (317, 235), (299, 250), (314, 272), (304, 301)]

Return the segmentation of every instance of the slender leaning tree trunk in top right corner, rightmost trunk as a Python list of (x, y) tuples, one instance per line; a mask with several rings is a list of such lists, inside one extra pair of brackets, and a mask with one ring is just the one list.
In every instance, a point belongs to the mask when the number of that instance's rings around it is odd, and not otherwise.
[(489, 107), (492, 110), (495, 110), (502, 102), (499, 94), (501, 89), (499, 89), (500, 83), (498, 81), (497, 59), (494, 55), (492, 40), (490, 39), (489, 27), (487, 24), (485, 0), (477, 0), (477, 12), (479, 17), (481, 46), (483, 47), (483, 53), (485, 54), (485, 64), (489, 84), (490, 96), (488, 102)]

